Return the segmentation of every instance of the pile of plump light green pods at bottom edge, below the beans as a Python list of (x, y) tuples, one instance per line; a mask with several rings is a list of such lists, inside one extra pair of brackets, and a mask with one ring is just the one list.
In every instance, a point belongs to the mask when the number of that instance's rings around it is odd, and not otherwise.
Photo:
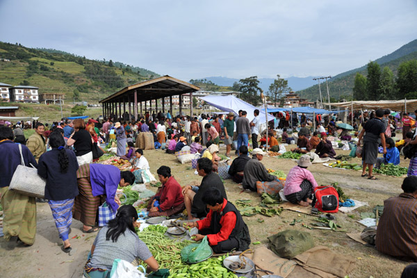
[(210, 258), (201, 263), (195, 263), (193, 265), (185, 265), (183, 268), (170, 272), (168, 278), (180, 278), (180, 277), (213, 277), (213, 278), (237, 278), (238, 276), (233, 272), (229, 272), (227, 268), (224, 268), (222, 262), (226, 256), (220, 256), (218, 258)]

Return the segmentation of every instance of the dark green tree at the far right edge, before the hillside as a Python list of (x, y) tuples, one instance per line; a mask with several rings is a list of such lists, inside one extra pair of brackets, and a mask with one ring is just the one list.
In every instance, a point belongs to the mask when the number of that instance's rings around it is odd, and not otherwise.
[(417, 92), (417, 60), (409, 60), (400, 64), (396, 87), (400, 99), (410, 92)]

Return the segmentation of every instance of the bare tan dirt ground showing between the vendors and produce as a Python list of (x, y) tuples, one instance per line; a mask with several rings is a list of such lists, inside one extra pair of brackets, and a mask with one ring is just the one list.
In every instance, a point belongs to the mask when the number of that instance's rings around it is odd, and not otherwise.
[[(224, 154), (224, 148), (220, 148), (220, 153)], [(337, 154), (348, 154), (348, 151), (336, 151)], [(156, 174), (156, 169), (160, 165), (167, 165), (172, 168), (174, 177), (186, 185), (190, 181), (201, 181), (201, 177), (194, 174), (190, 168), (190, 163), (181, 165), (175, 156), (165, 154), (161, 150), (145, 151), (151, 170)], [(358, 161), (359, 158), (354, 158)], [(288, 159), (277, 159), (265, 157), (262, 161), (267, 168), (288, 172), (295, 165), (294, 161)], [(402, 159), (401, 165), (408, 166), (409, 161)], [(338, 182), (345, 194), (352, 199), (368, 202), (369, 206), (363, 206), (349, 213), (353, 219), (346, 214), (336, 213), (337, 223), (343, 226), (348, 233), (360, 232), (364, 228), (357, 220), (360, 220), (360, 213), (372, 211), (377, 204), (383, 204), (384, 199), (398, 195), (401, 190), (401, 177), (386, 177), (377, 175), (378, 181), (369, 181), (361, 178), (361, 172), (354, 170), (338, 170), (315, 164), (309, 170), (316, 177), (319, 185)], [(252, 205), (260, 203), (260, 198), (256, 193), (242, 192), (238, 185), (227, 179), (224, 181), (227, 195), (231, 202), (237, 199), (251, 199)], [(153, 190), (153, 188), (151, 188)], [(56, 230), (51, 210), (48, 204), (37, 204), (38, 206), (38, 227), (36, 231), (35, 244), (31, 247), (23, 247), (16, 243), (6, 243), (0, 238), (0, 277), (82, 277), (83, 265), (85, 264), (88, 252), (95, 239), (95, 234), (85, 234), (81, 231), (81, 222), (72, 222), (72, 234), (70, 241), (72, 247), (76, 249), (74, 255), (69, 256), (60, 250), (60, 240)], [(259, 224), (258, 219), (265, 220)], [(293, 211), (283, 211), (281, 215), (268, 218), (263, 215), (254, 215), (250, 218), (244, 217), (247, 223), (252, 242), (261, 241), (268, 243), (267, 237), (285, 229), (299, 229), (308, 231), (313, 235), (316, 245), (324, 245), (338, 254), (351, 256), (356, 261), (356, 265), (350, 277), (400, 277), (406, 262), (392, 259), (389, 256), (380, 254), (371, 247), (366, 247), (351, 240), (342, 231), (324, 231), (313, 229), (309, 230), (297, 222), (295, 226), (290, 226), (289, 222), (293, 219), (302, 219), (302, 222), (309, 224), (315, 219), (314, 216), (299, 214)], [(80, 236), (80, 238), (74, 238)]]

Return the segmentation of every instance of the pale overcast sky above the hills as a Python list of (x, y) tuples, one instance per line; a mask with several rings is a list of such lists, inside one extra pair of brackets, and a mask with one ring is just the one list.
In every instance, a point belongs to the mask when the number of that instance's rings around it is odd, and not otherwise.
[(185, 81), (336, 75), (416, 38), (416, 0), (0, 0), (3, 42)]

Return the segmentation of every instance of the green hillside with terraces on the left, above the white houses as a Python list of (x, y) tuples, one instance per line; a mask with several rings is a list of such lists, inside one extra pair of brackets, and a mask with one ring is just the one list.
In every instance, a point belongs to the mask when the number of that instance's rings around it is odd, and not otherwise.
[(0, 42), (0, 82), (32, 85), (43, 92), (65, 94), (67, 103), (97, 103), (120, 88), (158, 77), (155, 72), (120, 62), (89, 60), (55, 49), (31, 49)]

